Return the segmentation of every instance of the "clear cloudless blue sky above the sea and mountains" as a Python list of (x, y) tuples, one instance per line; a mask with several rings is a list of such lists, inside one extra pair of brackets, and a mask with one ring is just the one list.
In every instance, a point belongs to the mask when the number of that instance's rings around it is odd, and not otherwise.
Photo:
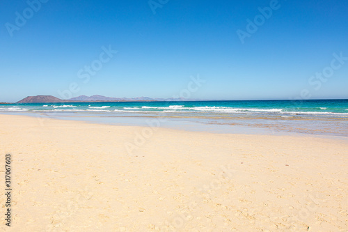
[(348, 1), (0, 3), (0, 102), (348, 98)]

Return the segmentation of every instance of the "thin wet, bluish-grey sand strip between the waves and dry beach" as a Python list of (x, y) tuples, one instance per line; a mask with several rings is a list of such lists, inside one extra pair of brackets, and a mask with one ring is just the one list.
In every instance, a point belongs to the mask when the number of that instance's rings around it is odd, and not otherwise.
[[(61, 115), (59, 115), (61, 114)], [(65, 114), (65, 115), (64, 115)], [(86, 116), (84, 116), (86, 114)], [(42, 124), (47, 119), (56, 119), (64, 121), (81, 121), (84, 123), (96, 123), (102, 125), (117, 125), (117, 126), (131, 126), (131, 127), (154, 127), (159, 125), (161, 128), (168, 128), (173, 130), (184, 130), (188, 132), (209, 132), (217, 134), (255, 134), (255, 135), (276, 135), (276, 136), (294, 136), (294, 137), (318, 137), (323, 139), (342, 139), (348, 140), (348, 134), (321, 134), (310, 133), (304, 131), (282, 131), (272, 129), (267, 125), (255, 126), (255, 125), (236, 125), (236, 124), (219, 124), (219, 123), (209, 123), (201, 121), (192, 121), (191, 118), (180, 118), (180, 120), (173, 121), (170, 117), (160, 117), (160, 116), (99, 116), (95, 113), (56, 113), (49, 114), (47, 112), (8, 112), (0, 111), (0, 115), (14, 115), (14, 116), (29, 116), (33, 118), (38, 118), (38, 121)], [(50, 116), (51, 115), (51, 116)], [(52, 116), (53, 115), (53, 116)], [(100, 115), (103, 115), (102, 113)], [(101, 119), (102, 118), (102, 119)], [(108, 120), (109, 119), (109, 120)], [(116, 122), (115, 122), (115, 119)], [(176, 118), (174, 118), (176, 119)], [(194, 118), (193, 118), (194, 119)], [(248, 118), (245, 119), (247, 121)], [(271, 121), (271, 119), (261, 119)], [(290, 119), (292, 120), (292, 119)], [(297, 120), (297, 119), (296, 119)], [(155, 126), (153, 126), (155, 125)]]

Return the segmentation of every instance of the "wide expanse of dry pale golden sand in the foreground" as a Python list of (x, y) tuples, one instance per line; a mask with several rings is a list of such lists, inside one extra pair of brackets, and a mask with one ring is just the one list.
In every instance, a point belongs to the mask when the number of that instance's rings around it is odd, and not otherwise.
[(0, 115), (0, 231), (348, 231), (347, 140), (143, 130)]

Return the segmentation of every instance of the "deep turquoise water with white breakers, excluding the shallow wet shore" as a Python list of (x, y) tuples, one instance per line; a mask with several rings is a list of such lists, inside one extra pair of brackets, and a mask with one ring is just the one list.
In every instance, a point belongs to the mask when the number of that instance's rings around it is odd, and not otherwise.
[(260, 100), (200, 102), (79, 102), (0, 105), (0, 111), (70, 111), (120, 113), (177, 113), (185, 115), (254, 114), (348, 116), (348, 100)]

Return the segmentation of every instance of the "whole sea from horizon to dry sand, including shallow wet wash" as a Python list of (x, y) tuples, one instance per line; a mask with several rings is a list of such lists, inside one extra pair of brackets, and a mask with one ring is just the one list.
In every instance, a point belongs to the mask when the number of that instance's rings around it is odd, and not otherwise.
[(348, 100), (15, 103), (0, 105), (0, 113), (209, 132), (348, 137)]

